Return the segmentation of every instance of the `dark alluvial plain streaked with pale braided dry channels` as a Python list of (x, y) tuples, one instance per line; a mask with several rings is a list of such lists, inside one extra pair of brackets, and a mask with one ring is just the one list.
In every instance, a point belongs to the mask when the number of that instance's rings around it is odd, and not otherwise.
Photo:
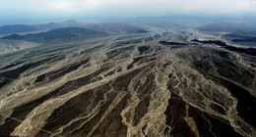
[(172, 31), (6, 55), (0, 135), (255, 136), (255, 57), (191, 41), (209, 37), (219, 38)]

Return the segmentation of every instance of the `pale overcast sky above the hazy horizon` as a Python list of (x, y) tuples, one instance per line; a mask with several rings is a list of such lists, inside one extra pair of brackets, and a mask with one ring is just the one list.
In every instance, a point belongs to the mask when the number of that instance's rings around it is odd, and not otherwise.
[(256, 15), (255, 0), (0, 0), (0, 18)]

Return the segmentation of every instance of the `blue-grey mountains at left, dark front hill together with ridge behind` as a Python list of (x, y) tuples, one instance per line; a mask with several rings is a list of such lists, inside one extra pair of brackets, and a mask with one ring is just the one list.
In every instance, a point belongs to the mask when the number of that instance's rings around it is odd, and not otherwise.
[[(69, 26), (74, 25), (74, 26)], [(63, 27), (68, 26), (68, 27)], [(57, 28), (56, 28), (57, 27)], [(58, 28), (60, 27), (60, 28)], [(33, 32), (35, 30), (46, 30), (43, 32)], [(2, 31), (1, 31), (2, 30)], [(75, 37), (97, 37), (110, 34), (120, 33), (147, 33), (144, 27), (140, 27), (131, 23), (92, 23), (83, 24), (76, 21), (67, 21), (64, 23), (46, 23), (38, 25), (5, 25), (0, 28), (2, 33), (13, 33), (3, 36), (1, 39), (10, 40), (27, 40), (33, 42), (45, 42), (49, 40), (70, 39)], [(19, 32), (27, 32), (28, 34), (17, 34)], [(30, 33), (31, 32), (31, 33)]]

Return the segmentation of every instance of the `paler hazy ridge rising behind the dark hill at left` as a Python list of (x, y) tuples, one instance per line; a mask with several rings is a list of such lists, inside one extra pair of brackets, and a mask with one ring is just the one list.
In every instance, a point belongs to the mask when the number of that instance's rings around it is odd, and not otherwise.
[(107, 33), (145, 33), (145, 27), (132, 23), (79, 23), (69, 20), (63, 23), (41, 23), (41, 24), (12, 24), (0, 26), (0, 34), (31, 33), (63, 27), (85, 27), (96, 31)]

